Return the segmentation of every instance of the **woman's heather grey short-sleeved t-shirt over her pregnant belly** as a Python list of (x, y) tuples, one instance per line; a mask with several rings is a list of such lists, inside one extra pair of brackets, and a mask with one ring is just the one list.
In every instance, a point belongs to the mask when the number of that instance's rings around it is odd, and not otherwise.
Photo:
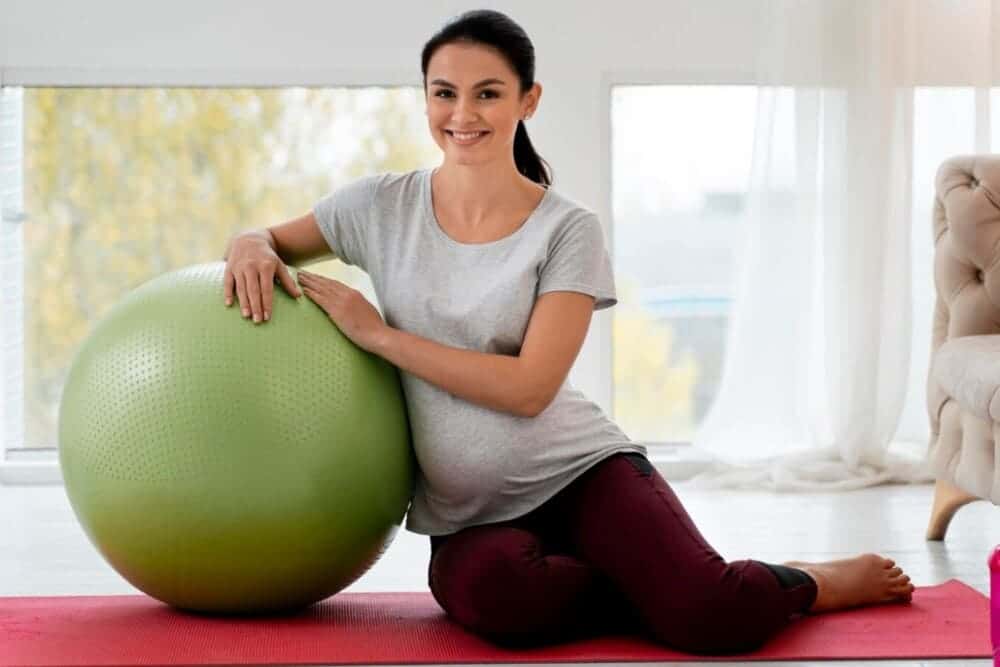
[[(371, 278), (386, 324), (442, 345), (517, 356), (535, 299), (613, 306), (596, 214), (549, 188), (513, 234), (459, 243), (431, 205), (431, 169), (348, 183), (313, 213), (333, 253)], [(567, 379), (535, 417), (493, 410), (399, 369), (419, 470), (406, 529), (446, 535), (527, 514), (618, 452), (646, 454)]]

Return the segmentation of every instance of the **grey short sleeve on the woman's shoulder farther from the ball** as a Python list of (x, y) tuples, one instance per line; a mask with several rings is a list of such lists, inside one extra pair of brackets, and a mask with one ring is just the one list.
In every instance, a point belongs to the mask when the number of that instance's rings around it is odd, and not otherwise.
[(594, 310), (618, 303), (604, 230), (590, 213), (561, 226), (549, 242), (538, 274), (538, 294), (567, 290), (595, 298)]

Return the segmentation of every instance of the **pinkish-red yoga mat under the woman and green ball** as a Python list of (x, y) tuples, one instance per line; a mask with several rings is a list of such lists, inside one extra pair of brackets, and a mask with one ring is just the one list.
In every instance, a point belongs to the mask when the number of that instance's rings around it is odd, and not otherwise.
[(641, 635), (497, 647), (430, 593), (340, 593), (295, 615), (179, 612), (142, 595), (0, 598), (0, 665), (288, 665), (988, 658), (989, 600), (952, 579), (908, 604), (804, 616), (760, 650), (718, 658)]

